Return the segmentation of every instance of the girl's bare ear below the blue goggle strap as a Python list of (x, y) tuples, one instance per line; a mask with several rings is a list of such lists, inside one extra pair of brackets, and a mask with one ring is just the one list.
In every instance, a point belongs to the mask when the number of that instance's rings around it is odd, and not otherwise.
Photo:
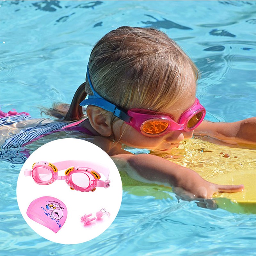
[(104, 137), (112, 135), (111, 115), (109, 115), (109, 112), (102, 108), (90, 105), (86, 108), (86, 114), (92, 128), (96, 132), (99, 132), (100, 135)]

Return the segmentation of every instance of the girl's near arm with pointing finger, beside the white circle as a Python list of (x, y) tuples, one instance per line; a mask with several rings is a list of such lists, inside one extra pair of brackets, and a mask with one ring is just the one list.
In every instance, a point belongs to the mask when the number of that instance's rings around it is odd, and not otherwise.
[(212, 198), (214, 193), (238, 192), (243, 185), (217, 185), (204, 180), (198, 173), (148, 154), (119, 154), (112, 156), (117, 168), (125, 170), (134, 180), (173, 188), (183, 199)]

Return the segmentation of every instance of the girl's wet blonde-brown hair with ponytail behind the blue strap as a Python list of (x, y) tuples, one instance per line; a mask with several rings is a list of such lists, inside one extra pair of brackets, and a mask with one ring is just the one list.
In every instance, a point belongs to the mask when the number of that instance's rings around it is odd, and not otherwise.
[[(195, 64), (180, 46), (153, 28), (110, 31), (93, 47), (88, 65), (96, 92), (125, 110), (163, 111), (198, 78)], [(79, 102), (92, 94), (87, 77), (83, 90), (80, 86), (76, 91), (64, 120), (83, 116)]]

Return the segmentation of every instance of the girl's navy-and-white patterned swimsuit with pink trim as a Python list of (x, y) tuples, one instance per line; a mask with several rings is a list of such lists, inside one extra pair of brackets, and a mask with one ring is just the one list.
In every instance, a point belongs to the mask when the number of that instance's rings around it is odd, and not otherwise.
[[(33, 118), (29, 116), (28, 113), (18, 113), (18, 115), (4, 116), (0, 118), (0, 126), (11, 125), (29, 119)], [(54, 132), (79, 131), (87, 135), (93, 135), (88, 129), (77, 126), (84, 120), (79, 120), (72, 123), (60, 121), (45, 123), (45, 120), (47, 119), (42, 119), (36, 125), (28, 124), (24, 129), (21, 129), (20, 132), (6, 139), (1, 146), (0, 159), (11, 162), (12, 164), (24, 164), (28, 156), (30, 156), (29, 150), (25, 149), (24, 146)]]

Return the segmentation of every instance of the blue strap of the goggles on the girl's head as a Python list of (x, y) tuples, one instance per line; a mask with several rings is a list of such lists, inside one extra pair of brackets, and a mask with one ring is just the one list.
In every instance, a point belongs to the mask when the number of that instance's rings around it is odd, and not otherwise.
[(80, 106), (87, 106), (87, 105), (93, 105), (93, 106), (97, 106), (100, 108), (103, 108), (107, 111), (110, 111), (114, 114), (114, 116), (120, 118), (121, 120), (129, 123), (131, 121), (131, 116), (128, 116), (124, 110), (118, 108), (116, 105), (112, 104), (111, 102), (109, 102), (108, 100), (105, 100), (104, 98), (102, 98), (100, 96), (100, 94), (98, 94), (93, 86), (92, 86), (92, 81), (90, 78), (90, 74), (89, 74), (89, 67), (87, 66), (87, 78), (88, 78), (88, 82), (90, 84), (90, 87), (92, 89), (93, 95), (89, 95), (87, 100), (83, 100), (82, 102), (80, 102)]

